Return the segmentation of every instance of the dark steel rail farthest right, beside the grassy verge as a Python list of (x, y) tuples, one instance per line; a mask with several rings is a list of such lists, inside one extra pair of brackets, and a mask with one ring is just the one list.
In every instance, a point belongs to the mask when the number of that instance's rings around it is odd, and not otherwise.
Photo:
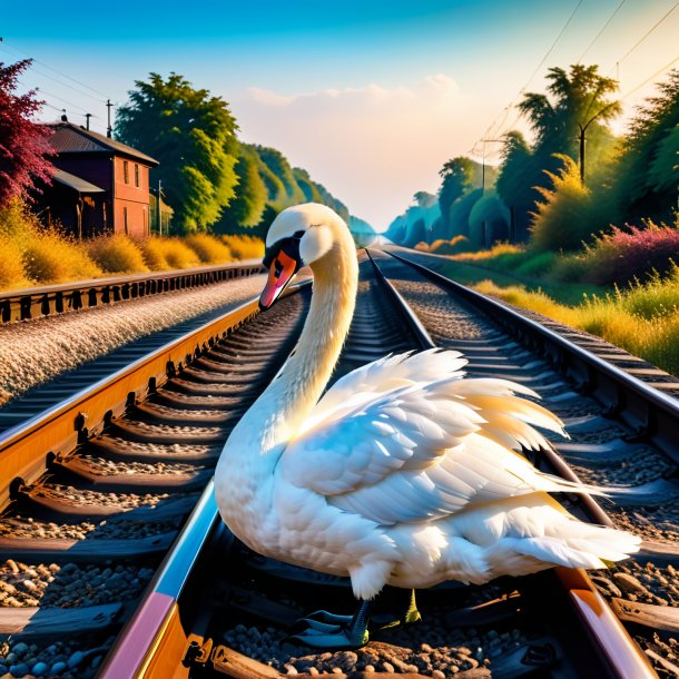
[(533, 351), (540, 350), (558, 372), (565, 374), (575, 383), (577, 388), (594, 396), (606, 406), (609, 414), (620, 416), (638, 437), (649, 439), (662, 452), (679, 462), (677, 398), (611, 365), (592, 352), (504, 304), (451, 281), (401, 254), (384, 252), (483, 309), (503, 325), (510, 335), (532, 346)]

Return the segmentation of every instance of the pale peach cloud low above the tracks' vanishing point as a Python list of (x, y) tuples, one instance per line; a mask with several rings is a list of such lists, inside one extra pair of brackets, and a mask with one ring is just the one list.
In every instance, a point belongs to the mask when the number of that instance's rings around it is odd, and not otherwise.
[(253, 87), (232, 105), (246, 141), (278, 148), (378, 228), (415, 191), (436, 190), (443, 163), (466, 152), (475, 119), (470, 98), (444, 73), (412, 87)]

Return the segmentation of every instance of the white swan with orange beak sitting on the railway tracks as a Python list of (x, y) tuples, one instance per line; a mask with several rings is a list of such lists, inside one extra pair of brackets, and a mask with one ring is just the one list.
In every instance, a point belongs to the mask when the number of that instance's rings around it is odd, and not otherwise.
[[(314, 276), (295, 350), (228, 437), (215, 471), (223, 520), (252, 550), (348, 575), (353, 617), (318, 611), (295, 638), (319, 648), (368, 640), (385, 584), (485, 583), (553, 565), (606, 568), (639, 538), (572, 516), (548, 493), (599, 489), (538, 471), (519, 454), (548, 445), (533, 425), (562, 422), (499, 378), (463, 378), (459, 352), (390, 355), (338, 380), (321, 398), (354, 312), (358, 265), (344, 220), (304, 204), (266, 238), (268, 308), (297, 270)], [(417, 620), (414, 593), (401, 622)]]

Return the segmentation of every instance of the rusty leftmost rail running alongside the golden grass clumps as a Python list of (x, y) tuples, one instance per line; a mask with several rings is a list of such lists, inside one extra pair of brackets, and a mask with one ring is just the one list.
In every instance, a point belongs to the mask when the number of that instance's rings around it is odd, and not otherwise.
[(80, 308), (213, 285), (222, 281), (259, 274), (263, 270), (258, 259), (247, 259), (236, 264), (94, 278), (7, 291), (0, 293), (0, 323), (29, 321)]

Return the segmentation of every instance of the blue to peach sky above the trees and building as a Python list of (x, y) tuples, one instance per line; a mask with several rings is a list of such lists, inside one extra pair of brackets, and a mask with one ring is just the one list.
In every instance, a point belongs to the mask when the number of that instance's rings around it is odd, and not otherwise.
[[(550, 67), (597, 63), (624, 115), (679, 67), (670, 0), (4, 0), (0, 61), (35, 59), (40, 118), (106, 130), (106, 100), (180, 73), (223, 97), (239, 138), (273, 146), (383, 230), (459, 155), (496, 164), (514, 105)], [(112, 109), (115, 116), (115, 108)], [(480, 141), (488, 139), (488, 141)], [(144, 149), (140, 149), (144, 150)]]

